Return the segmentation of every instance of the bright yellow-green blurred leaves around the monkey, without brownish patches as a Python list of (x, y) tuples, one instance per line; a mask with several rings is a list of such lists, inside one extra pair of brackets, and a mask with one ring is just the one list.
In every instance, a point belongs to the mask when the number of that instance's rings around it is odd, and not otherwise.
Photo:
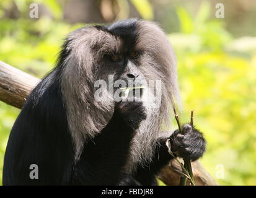
[[(9, 2), (1, 1), (0, 17)], [(15, 2), (22, 17), (1, 19), (0, 60), (43, 77), (54, 66), (63, 38), (82, 24), (29, 19), (27, 5), (32, 1)], [(45, 4), (55, 19), (61, 19), (56, 1), (33, 2)], [(144, 17), (151, 18), (147, 13), (152, 7), (143, 9)], [(214, 177), (218, 165), (223, 165), (224, 178), (216, 178), (219, 184), (256, 184), (256, 38), (232, 38), (221, 20), (210, 20), (209, 13), (207, 2), (195, 16), (177, 7), (180, 31), (168, 35), (178, 59), (184, 105), (180, 116), (189, 121), (190, 110), (195, 110), (194, 123), (208, 140), (201, 162)], [(18, 114), (19, 110), (0, 102), (0, 184), (4, 150)]]

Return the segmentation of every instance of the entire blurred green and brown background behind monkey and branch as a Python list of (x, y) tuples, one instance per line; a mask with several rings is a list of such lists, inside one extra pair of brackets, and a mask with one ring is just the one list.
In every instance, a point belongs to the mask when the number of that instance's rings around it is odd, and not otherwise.
[[(30, 19), (29, 5), (39, 5)], [(256, 1), (1, 0), (0, 60), (37, 77), (55, 64), (65, 35), (90, 23), (137, 17), (159, 22), (175, 48), (182, 121), (208, 140), (200, 160), (222, 185), (256, 184)], [(4, 150), (18, 109), (0, 101), (0, 184)]]

